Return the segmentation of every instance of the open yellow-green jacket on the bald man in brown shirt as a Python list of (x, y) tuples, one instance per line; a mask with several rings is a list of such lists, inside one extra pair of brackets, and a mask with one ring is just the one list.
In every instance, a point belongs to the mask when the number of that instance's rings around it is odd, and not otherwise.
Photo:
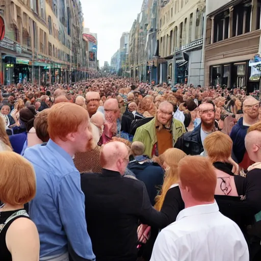
[[(173, 147), (177, 139), (186, 133), (184, 124), (179, 120), (173, 118), (172, 120), (172, 139)], [(145, 155), (151, 158), (151, 153), (154, 144), (157, 142), (156, 128), (155, 128), (155, 118), (148, 123), (137, 128), (133, 141), (140, 141), (145, 145)]]

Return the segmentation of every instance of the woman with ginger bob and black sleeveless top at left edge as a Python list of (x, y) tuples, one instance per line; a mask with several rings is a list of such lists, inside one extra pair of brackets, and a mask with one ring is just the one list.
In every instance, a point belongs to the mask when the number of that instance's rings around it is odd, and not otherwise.
[(19, 154), (0, 152), (0, 253), (5, 261), (38, 261), (40, 242), (36, 225), (24, 204), (36, 193), (33, 166)]

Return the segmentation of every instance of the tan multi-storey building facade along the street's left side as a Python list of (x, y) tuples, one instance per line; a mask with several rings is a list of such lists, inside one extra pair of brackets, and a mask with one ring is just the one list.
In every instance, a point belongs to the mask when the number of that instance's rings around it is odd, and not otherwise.
[(74, 82), (86, 67), (79, 0), (1, 0), (0, 82)]

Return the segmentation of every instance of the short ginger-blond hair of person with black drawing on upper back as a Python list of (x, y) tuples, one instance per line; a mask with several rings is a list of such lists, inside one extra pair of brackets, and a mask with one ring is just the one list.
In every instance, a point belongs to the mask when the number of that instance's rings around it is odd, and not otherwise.
[(231, 138), (222, 132), (214, 132), (204, 140), (204, 149), (212, 163), (226, 162), (231, 156), (232, 146)]

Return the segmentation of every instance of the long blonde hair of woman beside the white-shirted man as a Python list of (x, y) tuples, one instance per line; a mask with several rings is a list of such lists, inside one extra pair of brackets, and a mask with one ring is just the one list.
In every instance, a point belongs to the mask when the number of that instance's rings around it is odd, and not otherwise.
[(171, 185), (178, 182), (177, 175), (177, 165), (179, 161), (185, 158), (187, 154), (180, 149), (171, 148), (167, 149), (161, 156), (161, 160), (168, 165), (168, 169), (165, 172), (164, 182), (161, 189), (161, 194), (155, 197), (155, 209), (161, 211), (163, 202), (165, 200), (166, 194), (171, 187)]

